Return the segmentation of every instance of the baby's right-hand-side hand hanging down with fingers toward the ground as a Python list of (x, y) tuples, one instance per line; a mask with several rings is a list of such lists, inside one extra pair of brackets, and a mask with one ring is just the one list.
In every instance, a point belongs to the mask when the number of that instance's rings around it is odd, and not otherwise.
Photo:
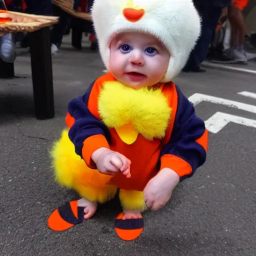
[(178, 174), (169, 168), (161, 169), (151, 178), (144, 188), (144, 201), (148, 208), (158, 210), (170, 199), (175, 186), (179, 182)]

